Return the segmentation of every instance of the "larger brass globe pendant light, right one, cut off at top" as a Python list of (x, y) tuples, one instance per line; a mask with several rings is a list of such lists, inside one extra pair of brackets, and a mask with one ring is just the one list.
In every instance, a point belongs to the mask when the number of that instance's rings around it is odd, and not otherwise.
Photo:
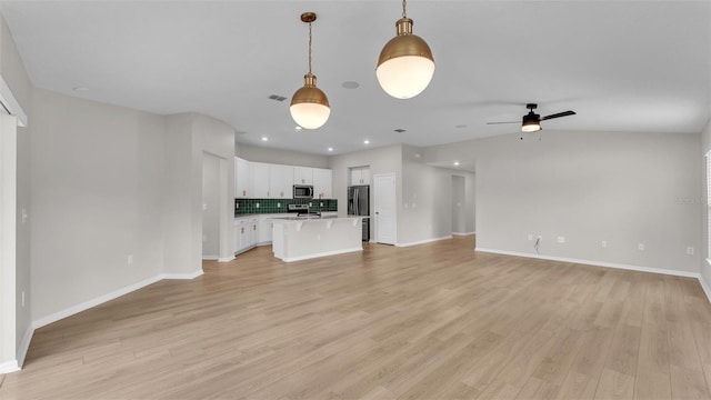
[(432, 51), (422, 38), (412, 34), (412, 20), (405, 13), (402, 0), (402, 18), (395, 22), (398, 36), (382, 48), (375, 76), (385, 93), (397, 99), (410, 99), (420, 94), (434, 74)]

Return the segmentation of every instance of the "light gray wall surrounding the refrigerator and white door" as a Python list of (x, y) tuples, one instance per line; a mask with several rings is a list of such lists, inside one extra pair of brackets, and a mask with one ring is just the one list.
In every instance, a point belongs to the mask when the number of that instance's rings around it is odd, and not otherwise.
[[(339, 216), (346, 216), (348, 207), (348, 187), (350, 186), (350, 168), (370, 167), (370, 177), (379, 173), (394, 172), (395, 197), (402, 198), (402, 146), (388, 146), (377, 149), (357, 151), (348, 154), (331, 156), (329, 166), (333, 172), (333, 198), (338, 200)], [(372, 188), (372, 182), (371, 182)], [(370, 191), (371, 216), (373, 214), (373, 191)], [(398, 227), (401, 217), (398, 214)], [(377, 221), (371, 220), (370, 237), (374, 238)], [(398, 228), (398, 231), (400, 228)], [(399, 232), (398, 232), (399, 234)], [(399, 239), (398, 239), (399, 240)]]

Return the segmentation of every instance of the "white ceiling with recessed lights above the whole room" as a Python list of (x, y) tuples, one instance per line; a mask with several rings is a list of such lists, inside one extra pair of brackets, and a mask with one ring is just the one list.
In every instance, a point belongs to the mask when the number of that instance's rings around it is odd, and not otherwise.
[[(541, 116), (578, 112), (544, 130), (688, 133), (711, 116), (710, 1), (411, 0), (414, 33), (437, 63), (411, 100), (388, 97), (374, 73), (398, 0), (0, 4), (37, 87), (163, 114), (202, 112), (254, 146), (328, 154), (329, 146), (361, 150), (364, 139), (425, 147), (505, 134), (520, 127), (485, 122), (520, 120), (527, 102)], [(289, 101), (307, 72), (303, 11), (318, 13), (313, 73), (331, 117), (296, 131)]]

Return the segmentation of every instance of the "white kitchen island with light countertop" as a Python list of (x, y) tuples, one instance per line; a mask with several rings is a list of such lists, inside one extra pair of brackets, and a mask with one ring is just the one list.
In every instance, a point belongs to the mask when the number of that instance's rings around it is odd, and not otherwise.
[(362, 251), (362, 220), (368, 217), (272, 219), (272, 251), (286, 262)]

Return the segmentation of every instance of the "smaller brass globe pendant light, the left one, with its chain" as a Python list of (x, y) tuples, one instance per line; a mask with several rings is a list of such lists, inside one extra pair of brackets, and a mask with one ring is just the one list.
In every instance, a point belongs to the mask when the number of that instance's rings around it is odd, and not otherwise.
[(289, 111), (300, 127), (317, 129), (329, 119), (331, 109), (329, 99), (321, 89), (316, 87), (316, 76), (311, 73), (311, 22), (316, 21), (316, 13), (302, 13), (301, 21), (309, 24), (309, 73), (303, 76), (303, 88), (293, 93)]

